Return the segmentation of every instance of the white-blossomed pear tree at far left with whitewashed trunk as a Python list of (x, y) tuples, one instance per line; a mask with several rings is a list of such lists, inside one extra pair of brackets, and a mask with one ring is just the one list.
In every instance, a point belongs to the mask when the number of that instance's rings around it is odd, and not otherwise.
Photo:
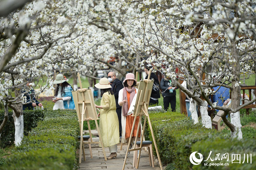
[(51, 90), (53, 77), (49, 73), (53, 69), (87, 69), (91, 65), (90, 49), (104, 39), (97, 34), (87, 36), (90, 30), (83, 26), (86, 16), (80, 15), (81, 3), (82, 0), (38, 0), (0, 18), (0, 102), (5, 108), (0, 133), (10, 107), (16, 145), (23, 138), (23, 95), (30, 90), (26, 79), (47, 77), (46, 84), (38, 84), (39, 91), (31, 95)]

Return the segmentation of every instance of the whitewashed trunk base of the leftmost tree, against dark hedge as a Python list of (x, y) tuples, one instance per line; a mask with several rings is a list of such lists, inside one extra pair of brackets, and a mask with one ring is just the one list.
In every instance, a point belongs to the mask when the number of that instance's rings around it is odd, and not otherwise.
[(16, 117), (14, 119), (15, 125), (15, 146), (19, 146), (23, 139), (23, 132), (24, 132), (24, 123), (23, 123), (23, 115), (20, 117)]

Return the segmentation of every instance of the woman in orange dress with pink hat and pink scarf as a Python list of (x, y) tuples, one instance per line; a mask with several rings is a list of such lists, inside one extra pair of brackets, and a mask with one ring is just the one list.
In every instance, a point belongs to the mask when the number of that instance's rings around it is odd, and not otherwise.
[[(137, 81), (134, 78), (134, 74), (127, 73), (125, 80), (123, 81), (124, 88), (119, 91), (118, 94), (118, 104), (122, 106), (122, 142), (125, 143), (125, 140), (128, 142), (131, 134), (132, 124), (134, 117), (128, 115), (128, 110), (130, 108), (130, 104), (132, 102), (132, 99), (134, 95), (138, 92), (138, 89), (134, 86), (136, 85)], [(136, 137), (137, 129), (139, 125), (139, 119), (140, 117), (137, 116), (134, 130), (132, 133), (132, 143), (134, 143), (134, 137)], [(138, 137), (141, 135), (141, 129), (139, 128), (139, 134)], [(124, 138), (125, 137), (125, 138)], [(140, 138), (137, 139), (138, 141)], [(130, 146), (131, 148), (131, 146)]]

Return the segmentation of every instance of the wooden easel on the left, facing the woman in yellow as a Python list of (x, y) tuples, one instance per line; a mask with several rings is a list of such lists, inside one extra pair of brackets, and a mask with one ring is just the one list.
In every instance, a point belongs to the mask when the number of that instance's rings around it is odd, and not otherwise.
[[(75, 103), (75, 110), (76, 110), (76, 114), (78, 117), (78, 121), (79, 121), (79, 126), (80, 126), (80, 153), (79, 153), (79, 163), (81, 164), (82, 161), (82, 151), (83, 151), (83, 157), (85, 160), (85, 151), (84, 151), (84, 144), (92, 144), (92, 143), (100, 143), (101, 144), (101, 148), (104, 154), (104, 158), (106, 159), (106, 154), (105, 154), (105, 150), (104, 150), (104, 146), (102, 143), (102, 139), (101, 139), (101, 135), (100, 135), (100, 130), (99, 130), (99, 126), (98, 126), (98, 122), (97, 120), (99, 119), (97, 116), (97, 111), (96, 111), (96, 107), (95, 107), (95, 103), (94, 103), (94, 99), (93, 99), (93, 94), (91, 92), (91, 89), (83, 89), (82, 88), (82, 82), (80, 79), (80, 75), (79, 73), (77, 73), (77, 77), (79, 80), (79, 84), (80, 84), (80, 89), (77, 91), (72, 91), (72, 95), (73, 95), (73, 99), (74, 99), (74, 103)], [(91, 128), (90, 128), (90, 120), (94, 120), (95, 124), (96, 124), (96, 128), (99, 134), (99, 141), (93, 141), (93, 138), (91, 136)], [(84, 125), (84, 121), (87, 122), (88, 125), (88, 129), (89, 129), (89, 135), (90, 135), (90, 141), (84, 141), (83, 140), (83, 125)], [(90, 150), (91, 152), (91, 150)], [(91, 158), (93, 158), (93, 155), (91, 154)]]

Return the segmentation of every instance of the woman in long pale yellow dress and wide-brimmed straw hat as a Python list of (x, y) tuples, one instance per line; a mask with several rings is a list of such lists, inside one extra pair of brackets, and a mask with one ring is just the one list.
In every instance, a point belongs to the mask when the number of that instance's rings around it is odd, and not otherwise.
[(109, 80), (101, 78), (95, 87), (101, 89), (100, 106), (100, 134), (104, 147), (109, 147), (108, 159), (116, 158), (117, 143), (119, 143), (119, 122), (116, 113), (116, 102), (114, 93), (111, 90)]

